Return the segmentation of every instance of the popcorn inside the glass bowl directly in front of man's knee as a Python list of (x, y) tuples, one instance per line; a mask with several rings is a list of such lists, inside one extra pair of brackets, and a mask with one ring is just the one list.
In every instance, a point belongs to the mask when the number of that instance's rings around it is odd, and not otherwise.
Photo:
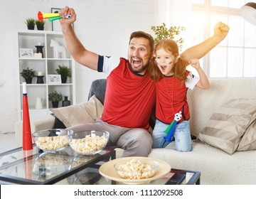
[(72, 139), (70, 146), (80, 154), (93, 154), (107, 144), (105, 136), (87, 135), (82, 139)]

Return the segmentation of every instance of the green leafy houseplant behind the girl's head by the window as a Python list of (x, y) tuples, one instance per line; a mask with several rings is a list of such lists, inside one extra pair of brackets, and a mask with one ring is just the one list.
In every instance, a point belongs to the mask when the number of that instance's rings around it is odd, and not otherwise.
[(168, 28), (165, 23), (161, 23), (160, 26), (151, 26), (151, 30), (155, 33), (154, 42), (157, 43), (159, 40), (163, 38), (174, 39), (178, 43), (178, 48), (182, 48), (182, 43), (184, 42), (183, 38), (175, 39), (181, 31), (185, 31), (186, 28), (183, 26), (170, 26)]

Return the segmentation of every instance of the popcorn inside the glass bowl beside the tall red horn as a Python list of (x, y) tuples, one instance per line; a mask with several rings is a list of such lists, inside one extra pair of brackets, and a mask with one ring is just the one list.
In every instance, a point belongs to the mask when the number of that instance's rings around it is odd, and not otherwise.
[(44, 136), (38, 137), (36, 145), (43, 150), (58, 150), (68, 146), (69, 136)]

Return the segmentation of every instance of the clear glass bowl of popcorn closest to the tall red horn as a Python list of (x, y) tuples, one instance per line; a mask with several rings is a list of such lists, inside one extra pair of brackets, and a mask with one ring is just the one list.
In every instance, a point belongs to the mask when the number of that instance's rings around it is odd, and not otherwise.
[(69, 129), (46, 129), (34, 132), (32, 139), (43, 151), (60, 151), (68, 146), (72, 133), (73, 131)]

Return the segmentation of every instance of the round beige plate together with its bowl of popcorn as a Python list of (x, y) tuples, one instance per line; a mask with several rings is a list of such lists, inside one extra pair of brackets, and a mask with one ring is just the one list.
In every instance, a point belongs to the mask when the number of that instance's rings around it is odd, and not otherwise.
[(156, 158), (126, 157), (108, 161), (100, 166), (100, 174), (124, 184), (144, 184), (171, 171), (169, 163)]

